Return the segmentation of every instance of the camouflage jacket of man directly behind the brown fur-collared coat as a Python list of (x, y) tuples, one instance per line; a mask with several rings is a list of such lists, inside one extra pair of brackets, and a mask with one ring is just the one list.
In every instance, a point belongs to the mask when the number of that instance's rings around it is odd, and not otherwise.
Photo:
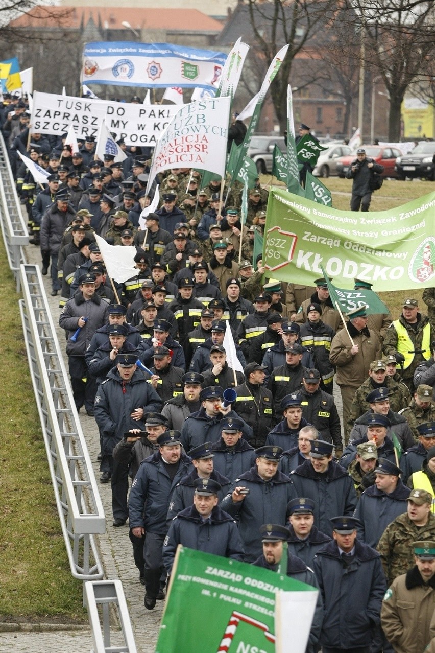
[(426, 526), (420, 528), (410, 520), (408, 513), (399, 515), (385, 528), (376, 550), (380, 552), (388, 585), (413, 567), (412, 543), (425, 539), (435, 539), (435, 516), (431, 513)]

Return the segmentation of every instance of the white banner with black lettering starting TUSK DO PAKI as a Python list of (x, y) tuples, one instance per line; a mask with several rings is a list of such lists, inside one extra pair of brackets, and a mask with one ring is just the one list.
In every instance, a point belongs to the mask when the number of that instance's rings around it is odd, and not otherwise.
[(127, 104), (35, 91), (31, 125), (35, 131), (60, 136), (72, 123), (80, 139), (96, 137), (105, 120), (116, 140), (154, 146), (178, 110), (176, 104)]

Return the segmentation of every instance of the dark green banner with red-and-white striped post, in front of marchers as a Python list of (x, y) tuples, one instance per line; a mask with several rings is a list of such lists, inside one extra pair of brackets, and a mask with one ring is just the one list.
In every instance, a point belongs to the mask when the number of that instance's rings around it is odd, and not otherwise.
[(155, 653), (275, 653), (275, 592), (316, 592), (269, 569), (178, 551)]

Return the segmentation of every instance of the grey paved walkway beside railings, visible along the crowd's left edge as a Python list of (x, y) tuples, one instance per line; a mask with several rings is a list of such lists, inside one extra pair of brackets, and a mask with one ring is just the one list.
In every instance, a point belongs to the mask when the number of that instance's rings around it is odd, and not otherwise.
[[(40, 251), (38, 247), (26, 247), (27, 262), (30, 264), (40, 265)], [(59, 317), (59, 296), (50, 296), (51, 283), (50, 276), (44, 277), (44, 287), (48, 295), (48, 302), (52, 311), (53, 322), (57, 325)], [(61, 346), (65, 346), (65, 332), (57, 328), (57, 336)], [(68, 368), (68, 366), (67, 366)], [(337, 402), (338, 412), (341, 413), (341, 397), (337, 392), (335, 399)], [(100, 477), (99, 463), (97, 455), (100, 450), (98, 438), (98, 428), (95, 420), (88, 417), (85, 413), (80, 413), (83, 433), (93, 461), (93, 469), (97, 479)], [(153, 611), (147, 611), (143, 606), (144, 588), (139, 582), (138, 569), (134, 565), (132, 556), (132, 547), (128, 539), (127, 524), (121, 528), (112, 526), (112, 492), (110, 483), (99, 485), (100, 495), (106, 513), (106, 534), (97, 537), (100, 547), (100, 555), (104, 564), (106, 578), (119, 579), (123, 583), (125, 596), (127, 598), (128, 608), (130, 610), (130, 619), (136, 638), (138, 651), (142, 653), (153, 653), (157, 643), (158, 628), (162, 616), (164, 601), (157, 603)], [(30, 631), (0, 632), (0, 653), (14, 652), (32, 652), (32, 653), (52, 653), (61, 650), (69, 650), (74, 653), (88, 652), (93, 647), (91, 632), (89, 628), (80, 631), (40, 631), (35, 627)], [(112, 644), (116, 641), (116, 633)]]

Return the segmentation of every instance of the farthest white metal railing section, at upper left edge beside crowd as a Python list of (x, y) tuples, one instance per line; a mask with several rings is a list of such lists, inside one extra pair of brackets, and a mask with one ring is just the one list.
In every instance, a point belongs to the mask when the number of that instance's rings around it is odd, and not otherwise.
[(0, 215), (1, 233), (8, 264), (20, 290), (20, 264), (25, 263), (23, 246), (29, 244), (29, 233), (20, 208), (5, 141), (0, 133)]

